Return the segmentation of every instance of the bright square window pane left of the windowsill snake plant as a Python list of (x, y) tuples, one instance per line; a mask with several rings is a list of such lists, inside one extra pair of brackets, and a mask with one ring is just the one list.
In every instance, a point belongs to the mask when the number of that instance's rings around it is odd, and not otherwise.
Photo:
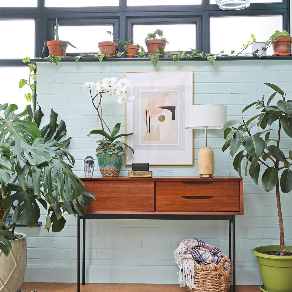
[(34, 57), (34, 20), (0, 20), (0, 58)]

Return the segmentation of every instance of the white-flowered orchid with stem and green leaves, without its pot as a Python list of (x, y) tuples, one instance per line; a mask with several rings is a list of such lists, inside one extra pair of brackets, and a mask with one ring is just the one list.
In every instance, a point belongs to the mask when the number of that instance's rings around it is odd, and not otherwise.
[[(100, 79), (98, 82), (84, 82), (82, 85), (82, 90), (89, 89), (90, 97), (92, 101), (93, 107), (96, 109), (97, 115), (99, 117), (101, 128), (97, 130), (92, 130), (87, 136), (90, 136), (92, 134), (99, 134), (105, 139), (97, 141), (98, 143), (112, 143), (116, 139), (123, 137), (123, 136), (130, 136), (132, 133), (125, 133), (125, 134), (119, 134), (121, 123), (116, 123), (116, 125), (113, 127), (112, 130), (109, 129), (106, 122), (103, 120), (102, 116), (102, 104), (101, 100), (105, 93), (107, 93), (108, 96), (112, 96), (115, 94), (117, 96), (117, 102), (119, 104), (126, 103), (127, 101), (133, 101), (135, 99), (135, 96), (133, 95), (133, 90), (130, 87), (130, 81), (127, 78), (120, 79), (117, 82), (116, 77), (112, 78), (103, 78)], [(95, 94), (92, 96), (92, 91), (95, 89)], [(99, 97), (99, 98), (97, 98)], [(97, 104), (97, 105), (96, 105)], [(108, 132), (105, 130), (105, 127), (107, 128)], [(134, 149), (123, 142), (125, 146), (130, 148), (133, 153)]]

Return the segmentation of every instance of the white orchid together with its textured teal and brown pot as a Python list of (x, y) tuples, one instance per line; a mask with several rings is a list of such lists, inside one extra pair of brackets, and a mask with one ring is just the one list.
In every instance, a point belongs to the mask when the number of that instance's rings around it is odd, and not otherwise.
[[(99, 170), (102, 176), (104, 177), (116, 177), (120, 175), (120, 171), (123, 165), (123, 156), (125, 154), (123, 150), (123, 145), (129, 147), (133, 153), (134, 149), (129, 145), (121, 141), (116, 141), (119, 137), (129, 136), (133, 133), (128, 134), (119, 134), (121, 123), (116, 123), (112, 130), (106, 125), (103, 120), (101, 100), (104, 93), (107, 93), (108, 96), (116, 94), (118, 96), (118, 103), (123, 104), (126, 101), (130, 102), (135, 99), (133, 91), (130, 87), (130, 81), (127, 78), (120, 79), (116, 82), (116, 77), (112, 78), (103, 78), (98, 82), (84, 82), (82, 89), (85, 90), (89, 88), (90, 96), (92, 100), (92, 105), (96, 109), (97, 115), (99, 117), (102, 130), (92, 130), (87, 136), (92, 134), (99, 134), (103, 136), (103, 140), (99, 140), (98, 147), (96, 149), (96, 156), (98, 159)], [(95, 88), (95, 95), (92, 96), (91, 89)], [(99, 96), (99, 99), (96, 100), (96, 97)], [(96, 104), (98, 105), (96, 106)], [(105, 130), (107, 128), (108, 132)]]

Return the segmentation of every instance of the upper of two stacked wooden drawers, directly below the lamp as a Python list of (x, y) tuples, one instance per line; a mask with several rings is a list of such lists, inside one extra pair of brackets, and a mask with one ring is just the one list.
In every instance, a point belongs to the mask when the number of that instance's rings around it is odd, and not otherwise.
[(156, 196), (238, 196), (240, 181), (156, 182)]

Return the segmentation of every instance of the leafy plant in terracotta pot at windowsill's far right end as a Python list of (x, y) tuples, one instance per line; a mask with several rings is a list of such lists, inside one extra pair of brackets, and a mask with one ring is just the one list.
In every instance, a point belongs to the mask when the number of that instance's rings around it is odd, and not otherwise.
[(275, 33), (270, 37), (272, 48), (274, 51), (273, 56), (291, 56), (291, 44), (292, 37), (286, 30), (276, 30)]

